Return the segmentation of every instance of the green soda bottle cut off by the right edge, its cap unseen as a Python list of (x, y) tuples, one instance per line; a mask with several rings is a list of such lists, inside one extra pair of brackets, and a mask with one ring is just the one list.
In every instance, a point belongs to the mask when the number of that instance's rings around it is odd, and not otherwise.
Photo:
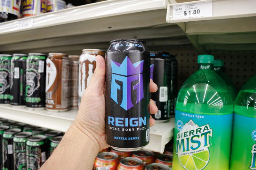
[(238, 93), (234, 110), (230, 170), (256, 169), (256, 75)]

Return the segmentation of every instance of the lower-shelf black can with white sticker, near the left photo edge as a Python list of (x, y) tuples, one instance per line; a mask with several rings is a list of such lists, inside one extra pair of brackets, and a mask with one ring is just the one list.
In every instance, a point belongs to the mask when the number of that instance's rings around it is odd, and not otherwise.
[(13, 159), (13, 138), (14, 134), (20, 132), (20, 129), (7, 129), (3, 134), (3, 154), (2, 163), (4, 170), (14, 169), (14, 159)]

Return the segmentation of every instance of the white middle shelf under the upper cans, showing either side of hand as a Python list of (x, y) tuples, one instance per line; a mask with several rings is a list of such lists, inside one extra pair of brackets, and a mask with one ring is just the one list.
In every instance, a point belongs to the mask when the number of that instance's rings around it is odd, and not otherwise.
[[(76, 118), (77, 109), (66, 112), (50, 112), (46, 110), (28, 110), (24, 108), (14, 108), (0, 106), (0, 117), (44, 127), (47, 129), (66, 132), (68, 127)], [(164, 145), (167, 144), (173, 136), (174, 118), (167, 123), (155, 124), (150, 128), (150, 142), (145, 149), (154, 152), (164, 152)]]

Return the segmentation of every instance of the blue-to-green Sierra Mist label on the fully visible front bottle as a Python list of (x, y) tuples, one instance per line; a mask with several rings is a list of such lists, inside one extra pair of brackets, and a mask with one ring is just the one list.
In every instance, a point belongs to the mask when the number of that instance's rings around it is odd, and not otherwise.
[(173, 169), (228, 170), (232, 118), (176, 110)]

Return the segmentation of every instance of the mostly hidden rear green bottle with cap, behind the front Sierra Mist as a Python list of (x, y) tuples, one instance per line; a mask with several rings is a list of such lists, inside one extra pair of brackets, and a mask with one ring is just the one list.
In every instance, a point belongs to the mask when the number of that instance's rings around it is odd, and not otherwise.
[(224, 74), (224, 63), (223, 60), (214, 60), (213, 62), (214, 71), (225, 81), (228, 86), (228, 90), (230, 91), (231, 97), (235, 103), (237, 90), (235, 85), (229, 80), (229, 78)]

